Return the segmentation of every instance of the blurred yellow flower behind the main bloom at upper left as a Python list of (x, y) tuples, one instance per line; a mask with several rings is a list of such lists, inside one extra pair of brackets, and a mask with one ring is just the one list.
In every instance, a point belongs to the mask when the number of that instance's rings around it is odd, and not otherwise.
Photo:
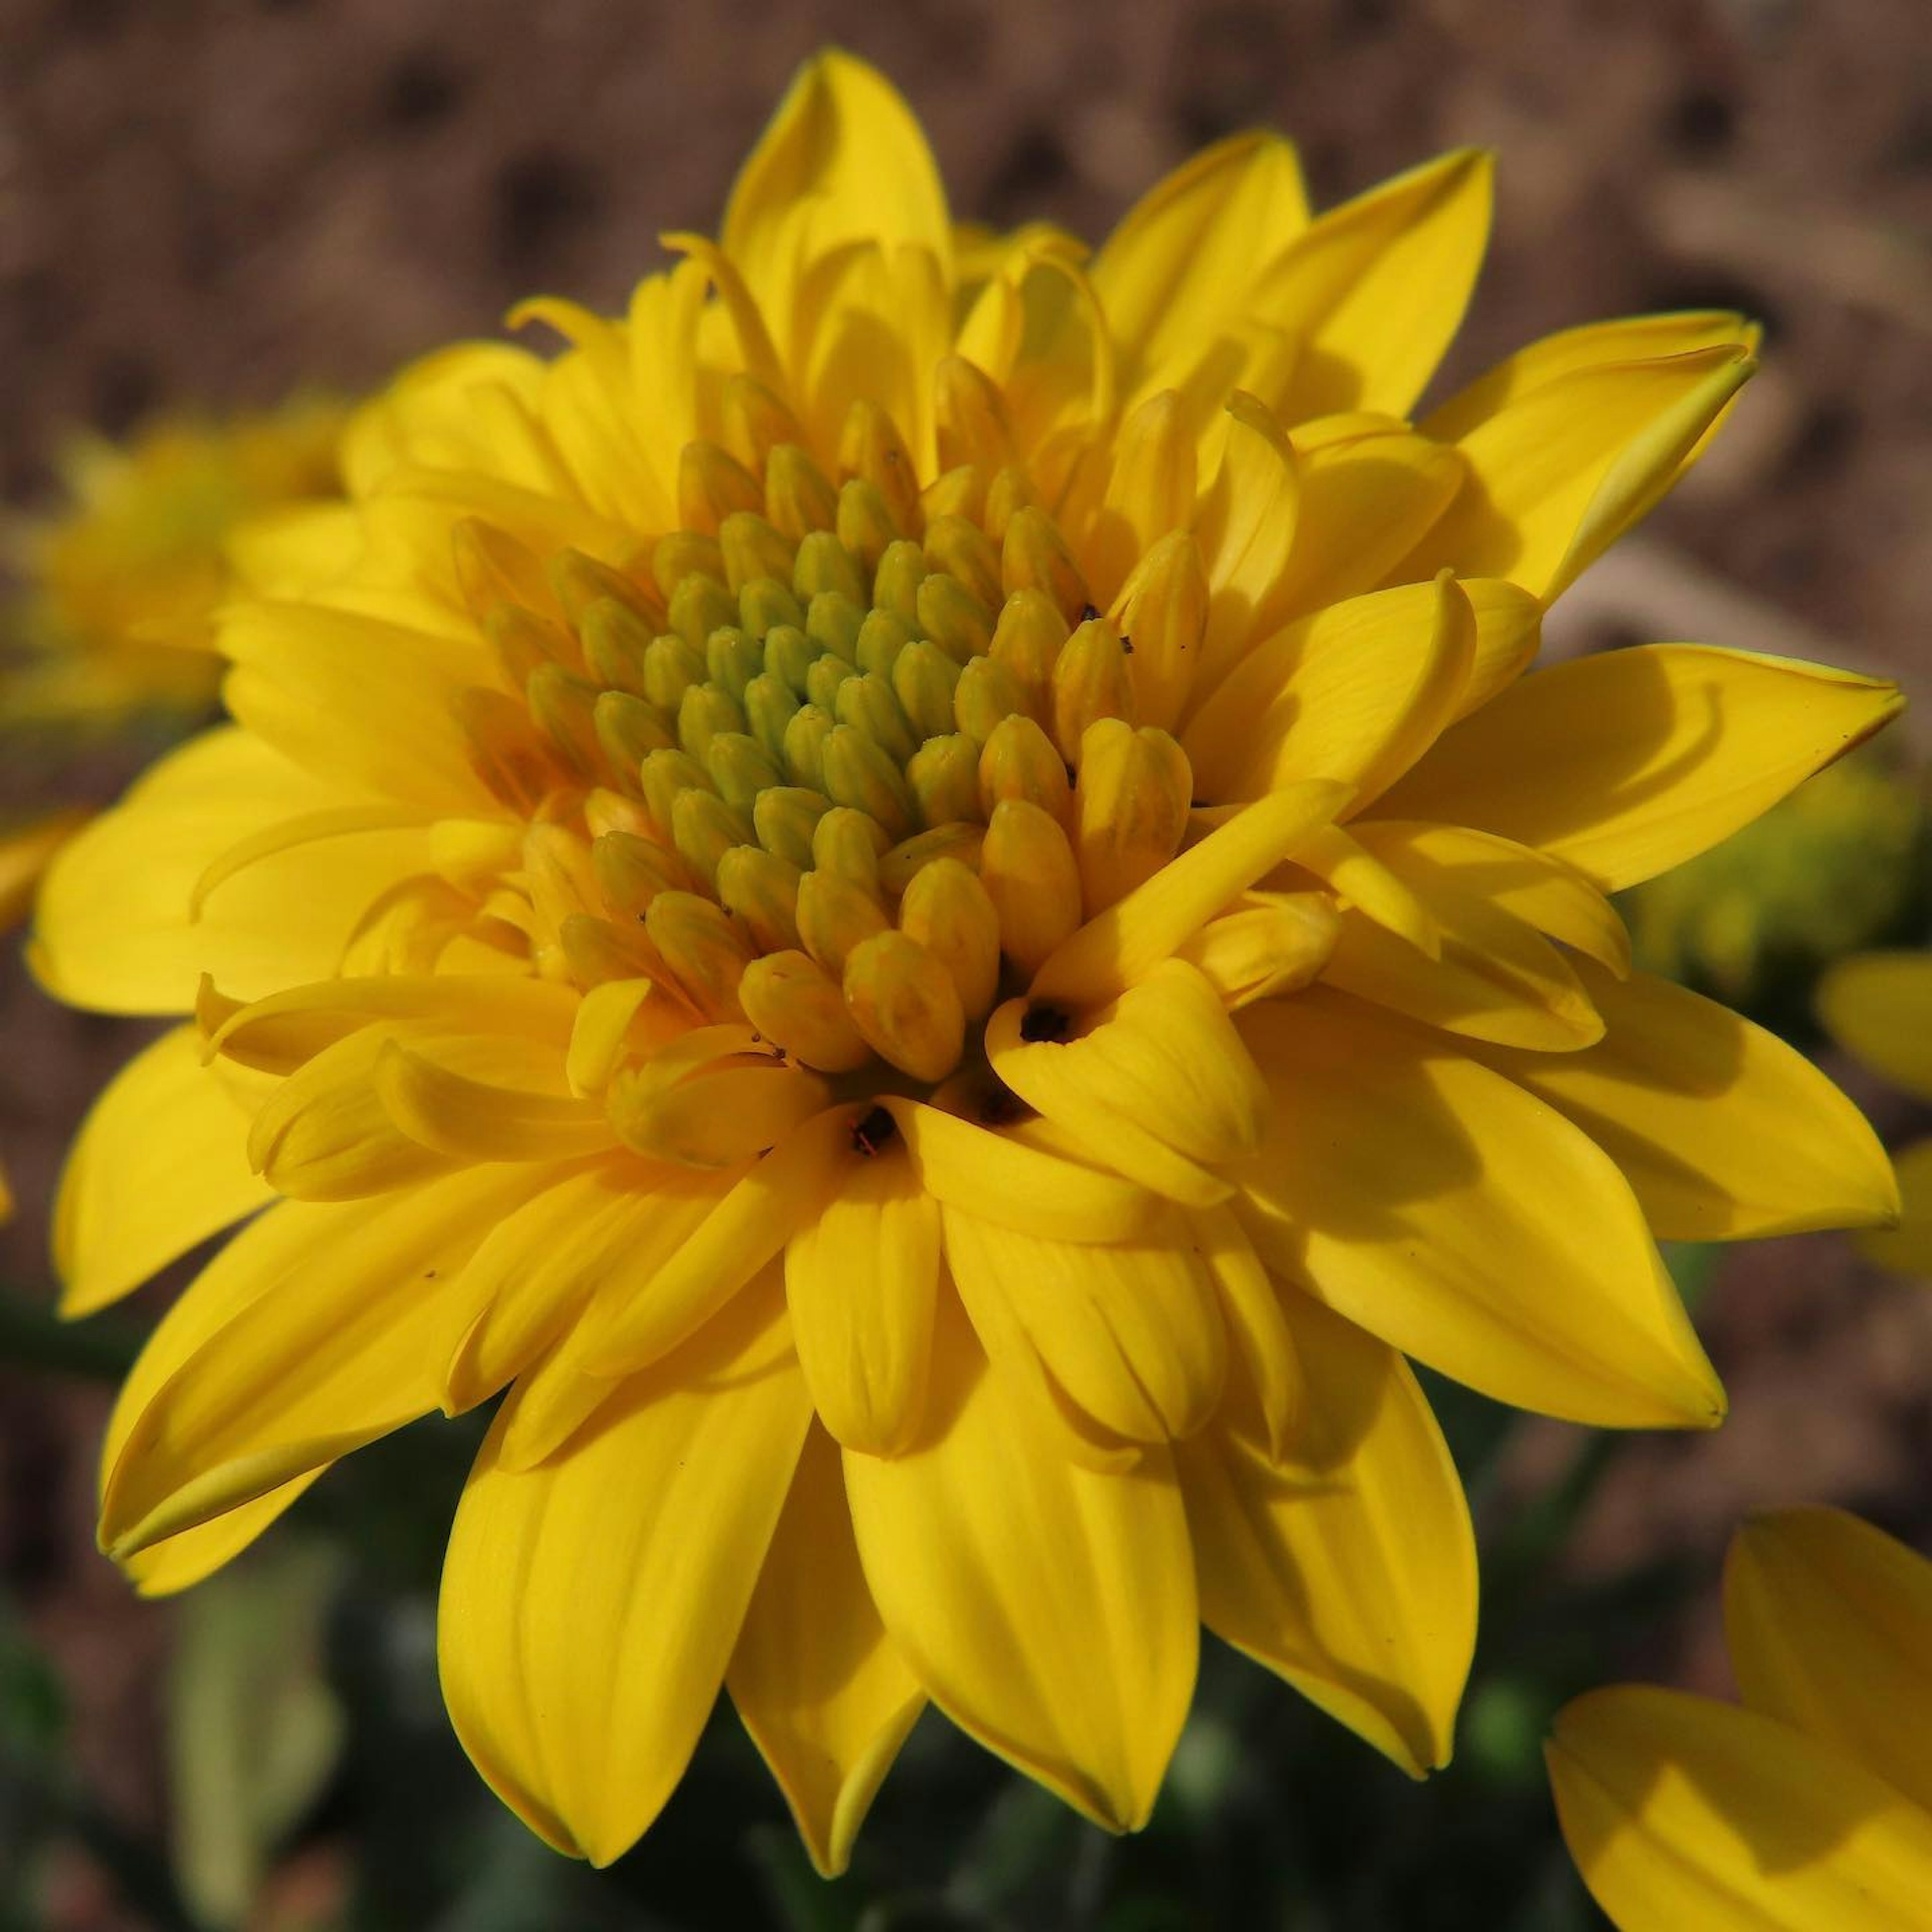
[(25, 595), (6, 616), (0, 728), (199, 721), (220, 686), (214, 609), (230, 539), (282, 504), (340, 495), (342, 404), (294, 396), (230, 417), (162, 415), (126, 446), (75, 437), (71, 497), (15, 531)]

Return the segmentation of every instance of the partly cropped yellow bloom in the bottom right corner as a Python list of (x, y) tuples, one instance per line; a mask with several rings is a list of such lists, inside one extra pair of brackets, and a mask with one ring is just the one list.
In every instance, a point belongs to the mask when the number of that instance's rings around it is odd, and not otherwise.
[(1571, 1857), (1619, 1932), (1924, 1932), (1932, 1563), (1835, 1509), (1731, 1542), (1743, 1708), (1619, 1685), (1548, 1747)]

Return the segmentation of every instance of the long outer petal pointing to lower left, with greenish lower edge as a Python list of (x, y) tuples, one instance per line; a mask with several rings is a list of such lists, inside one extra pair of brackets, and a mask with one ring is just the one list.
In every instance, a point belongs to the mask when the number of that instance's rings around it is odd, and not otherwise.
[(462, 1265), (541, 1179), (485, 1169), (377, 1204), (290, 1202), (238, 1235), (189, 1289), (222, 1318), (168, 1337), (172, 1372), (128, 1420), (102, 1548), (193, 1528), (435, 1408), (475, 1316)]

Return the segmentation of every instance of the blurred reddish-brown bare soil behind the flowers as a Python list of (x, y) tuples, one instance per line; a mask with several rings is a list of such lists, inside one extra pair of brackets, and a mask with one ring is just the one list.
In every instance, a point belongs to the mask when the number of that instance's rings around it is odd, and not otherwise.
[[(717, 220), (825, 41), (896, 77), (954, 209), (1003, 224), (1097, 236), (1256, 122), (1300, 141), (1320, 203), (1495, 147), (1495, 240), (1449, 379), (1604, 315), (1718, 303), (1766, 325), (1725, 437), (1555, 641), (1694, 636), (1932, 676), (1928, 0), (0, 0), (0, 497), (44, 502), (75, 423), (354, 392), (535, 290), (618, 307), (659, 230)], [(0, 1028), (21, 1196), (0, 1269), (44, 1293), (60, 1148), (139, 1034), (50, 1007), (12, 960)], [(1770, 1242), (1727, 1258), (1702, 1327), (1733, 1420), (1634, 1443), (1575, 1565), (1683, 1551), (1708, 1582), (1743, 1509), (1797, 1499), (1926, 1546), (1924, 1289), (1833, 1238)], [(170, 1613), (93, 1553), (104, 1406), (0, 1376), (0, 1584), (62, 1665), (102, 1801), (143, 1822), (164, 1803)], [(1571, 1449), (1530, 1432), (1492, 1507)], [(1642, 1662), (1721, 1685), (1708, 1609)], [(64, 1924), (114, 1924), (75, 1884)]]

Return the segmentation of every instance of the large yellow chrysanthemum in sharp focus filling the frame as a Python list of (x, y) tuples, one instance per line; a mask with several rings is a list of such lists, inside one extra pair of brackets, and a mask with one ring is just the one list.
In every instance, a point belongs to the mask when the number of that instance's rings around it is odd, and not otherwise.
[(1447, 1760), (1474, 1559), (1403, 1356), (1708, 1426), (1654, 1233), (1893, 1209), (1604, 893), (1897, 696), (1522, 674), (1750, 357), (1586, 328), (1406, 427), (1488, 209), (1453, 155), (1312, 220), (1244, 135), (1092, 259), (968, 245), (827, 58), (628, 317), (359, 415), (236, 728), (43, 898), (71, 1001), (207, 976), (75, 1150), (70, 1306), (282, 1198), (114, 1418), (145, 1588), (508, 1389), (442, 1681), (556, 1845), (624, 1851), (721, 1683), (827, 1870), (927, 1698), (1138, 1826), (1202, 1623)]

